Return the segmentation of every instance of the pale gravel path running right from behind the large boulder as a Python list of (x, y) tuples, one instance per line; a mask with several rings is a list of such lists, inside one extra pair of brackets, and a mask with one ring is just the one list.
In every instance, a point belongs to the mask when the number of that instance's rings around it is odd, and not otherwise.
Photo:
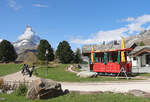
[(142, 90), (150, 92), (150, 81), (132, 81), (132, 82), (91, 82), (91, 83), (67, 83), (61, 82), (63, 89), (70, 91), (112, 91), (112, 92), (128, 92), (129, 90)]

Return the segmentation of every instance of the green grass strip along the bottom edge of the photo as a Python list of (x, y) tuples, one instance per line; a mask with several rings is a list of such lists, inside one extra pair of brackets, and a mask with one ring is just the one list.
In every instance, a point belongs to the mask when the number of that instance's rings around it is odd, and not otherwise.
[(15, 94), (0, 94), (0, 98), (5, 98), (1, 102), (150, 102), (150, 98), (135, 97), (132, 95), (103, 93), (103, 94), (87, 94), (80, 95), (71, 93), (64, 96), (48, 100), (29, 100), (24, 96), (16, 96)]

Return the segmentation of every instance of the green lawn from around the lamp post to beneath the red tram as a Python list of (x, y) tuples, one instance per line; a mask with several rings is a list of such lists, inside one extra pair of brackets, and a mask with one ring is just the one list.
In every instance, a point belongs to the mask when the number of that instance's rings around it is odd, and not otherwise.
[(79, 78), (76, 74), (67, 72), (66, 67), (68, 65), (59, 64), (56, 67), (49, 67), (48, 68), (48, 76), (45, 75), (46, 67), (41, 67), (36, 70), (38, 73), (37, 76), (47, 79), (52, 79), (56, 81), (67, 81), (67, 82), (93, 82), (93, 81), (120, 81), (126, 80), (125, 79), (116, 79), (115, 77), (108, 77), (108, 76), (99, 76), (96, 78)]

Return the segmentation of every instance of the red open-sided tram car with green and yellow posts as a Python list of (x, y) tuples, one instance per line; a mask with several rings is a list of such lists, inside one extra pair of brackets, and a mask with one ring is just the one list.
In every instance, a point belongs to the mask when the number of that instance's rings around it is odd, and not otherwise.
[[(127, 61), (127, 53), (132, 48), (112, 49), (104, 51), (90, 51), (89, 52), (89, 66), (90, 70), (98, 73), (120, 73), (121, 69), (128, 73), (131, 72), (132, 62)], [(123, 56), (122, 56), (122, 53)], [(124, 61), (122, 61), (124, 57)]]

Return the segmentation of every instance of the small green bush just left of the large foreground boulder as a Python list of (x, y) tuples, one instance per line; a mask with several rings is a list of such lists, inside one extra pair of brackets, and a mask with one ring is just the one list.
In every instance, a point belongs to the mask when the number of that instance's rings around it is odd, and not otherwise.
[(27, 93), (27, 86), (25, 84), (20, 84), (18, 89), (16, 90), (17, 96), (25, 96)]

